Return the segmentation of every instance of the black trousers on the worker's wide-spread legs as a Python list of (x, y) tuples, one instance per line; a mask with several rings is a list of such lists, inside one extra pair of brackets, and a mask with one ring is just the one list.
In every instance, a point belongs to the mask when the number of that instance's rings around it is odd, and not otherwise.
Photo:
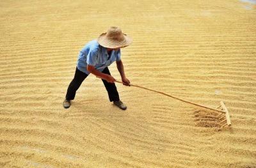
[[(102, 73), (111, 75), (108, 67), (106, 67), (102, 71)], [(76, 90), (80, 87), (80, 85), (82, 84), (82, 82), (84, 81), (84, 79), (87, 76), (88, 76), (88, 74), (83, 73), (76, 67), (76, 73), (75, 73), (74, 79), (70, 82), (70, 84), (68, 86), (68, 90), (67, 90), (67, 94), (66, 94), (67, 100), (74, 100), (74, 98), (76, 96)], [(108, 81), (106, 81), (106, 80), (102, 80), (102, 81), (104, 83), (104, 86), (106, 87), (106, 90), (108, 91), (109, 101), (119, 101), (120, 99), (119, 99), (118, 92), (116, 90), (115, 83), (108, 83)]]

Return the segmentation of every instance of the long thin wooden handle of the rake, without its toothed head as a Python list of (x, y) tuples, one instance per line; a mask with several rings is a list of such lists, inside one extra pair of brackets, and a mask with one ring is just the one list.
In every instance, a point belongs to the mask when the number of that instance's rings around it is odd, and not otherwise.
[[(97, 76), (97, 78), (100, 78), (100, 77)], [(124, 84), (122, 81), (118, 81), (118, 80), (116, 80), (115, 82)], [(150, 90), (150, 91), (152, 91), (152, 92), (157, 92), (157, 93), (159, 93), (159, 94), (167, 95), (168, 97), (172, 97), (173, 99), (177, 99), (177, 100), (182, 101), (182, 102), (187, 102), (187, 103), (189, 103), (189, 104), (193, 104), (193, 105), (199, 106), (199, 107), (201, 107), (201, 108), (211, 109), (211, 110), (213, 110), (213, 111), (218, 111), (218, 112), (220, 112), (220, 113), (226, 113), (225, 111), (222, 111), (222, 110), (220, 110), (220, 109), (210, 108), (210, 107), (204, 106), (204, 105), (202, 105), (202, 104), (196, 104), (195, 102), (186, 101), (186, 100), (184, 100), (184, 99), (180, 99), (180, 98), (178, 98), (178, 97), (174, 97), (173, 95), (169, 95), (169, 94), (166, 94), (166, 93), (164, 93), (164, 92), (159, 92), (159, 91), (153, 90), (153, 89), (151, 89), (151, 88), (145, 88), (145, 87), (141, 87), (141, 86), (139, 86), (139, 85), (132, 85), (132, 84), (130, 84), (130, 86), (132, 86), (132, 87), (138, 87), (138, 88), (144, 88), (144, 89)]]

